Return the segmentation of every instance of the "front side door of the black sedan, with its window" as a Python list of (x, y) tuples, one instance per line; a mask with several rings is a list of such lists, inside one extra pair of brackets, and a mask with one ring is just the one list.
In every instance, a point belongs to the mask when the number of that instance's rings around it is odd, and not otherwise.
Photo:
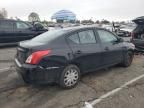
[(102, 47), (102, 64), (111, 65), (121, 62), (123, 60), (123, 48), (118, 37), (103, 29), (97, 29), (97, 33)]

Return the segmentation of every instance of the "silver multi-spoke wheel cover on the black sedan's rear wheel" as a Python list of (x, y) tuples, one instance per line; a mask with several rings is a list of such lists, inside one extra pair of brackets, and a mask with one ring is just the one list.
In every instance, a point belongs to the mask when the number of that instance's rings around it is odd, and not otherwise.
[(69, 69), (64, 75), (64, 84), (68, 87), (73, 86), (77, 83), (78, 78), (78, 71), (76, 69)]

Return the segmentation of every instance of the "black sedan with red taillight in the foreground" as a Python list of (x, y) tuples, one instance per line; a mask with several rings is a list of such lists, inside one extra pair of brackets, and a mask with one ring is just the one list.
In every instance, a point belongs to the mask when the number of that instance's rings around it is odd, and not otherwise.
[(131, 65), (134, 45), (94, 26), (70, 27), (20, 42), (15, 63), (27, 83), (74, 87), (82, 74), (116, 64)]

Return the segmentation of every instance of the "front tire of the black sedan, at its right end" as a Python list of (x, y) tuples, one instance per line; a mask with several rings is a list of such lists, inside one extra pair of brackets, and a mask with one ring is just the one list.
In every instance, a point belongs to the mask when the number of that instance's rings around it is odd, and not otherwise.
[(128, 51), (124, 56), (124, 61), (122, 65), (124, 67), (129, 67), (132, 64), (134, 53), (132, 51)]

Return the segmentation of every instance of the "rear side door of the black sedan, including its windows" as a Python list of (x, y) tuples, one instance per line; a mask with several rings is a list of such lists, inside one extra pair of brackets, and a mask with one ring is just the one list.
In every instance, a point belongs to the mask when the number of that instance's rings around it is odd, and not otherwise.
[(101, 48), (93, 29), (78, 31), (69, 40), (73, 51), (74, 62), (80, 64), (83, 72), (93, 71), (101, 64)]

